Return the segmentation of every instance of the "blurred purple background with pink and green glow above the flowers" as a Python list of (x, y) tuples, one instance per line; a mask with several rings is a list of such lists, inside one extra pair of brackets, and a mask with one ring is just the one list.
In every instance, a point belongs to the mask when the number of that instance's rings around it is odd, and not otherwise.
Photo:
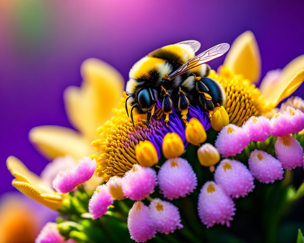
[[(80, 84), (86, 58), (110, 63), (127, 79), (132, 64), (158, 47), (196, 39), (203, 50), (251, 30), (263, 77), (304, 53), (303, 9), (302, 0), (0, 1), (0, 192), (14, 190), (9, 155), (38, 174), (47, 163), (28, 141), (30, 128), (71, 127), (62, 94)], [(303, 97), (303, 90), (295, 94)]]

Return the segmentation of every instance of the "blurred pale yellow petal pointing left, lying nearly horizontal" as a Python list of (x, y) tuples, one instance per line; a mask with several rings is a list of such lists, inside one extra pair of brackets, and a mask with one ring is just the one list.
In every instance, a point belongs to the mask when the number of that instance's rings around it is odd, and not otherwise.
[(29, 140), (48, 159), (71, 155), (75, 160), (95, 152), (91, 141), (78, 132), (60, 126), (39, 126), (29, 131)]

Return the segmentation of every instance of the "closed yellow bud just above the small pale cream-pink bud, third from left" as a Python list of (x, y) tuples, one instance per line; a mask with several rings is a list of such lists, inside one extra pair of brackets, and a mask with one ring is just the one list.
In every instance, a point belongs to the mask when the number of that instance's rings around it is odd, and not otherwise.
[(191, 118), (187, 124), (185, 136), (186, 140), (193, 145), (199, 145), (207, 139), (205, 128), (202, 123), (194, 117)]

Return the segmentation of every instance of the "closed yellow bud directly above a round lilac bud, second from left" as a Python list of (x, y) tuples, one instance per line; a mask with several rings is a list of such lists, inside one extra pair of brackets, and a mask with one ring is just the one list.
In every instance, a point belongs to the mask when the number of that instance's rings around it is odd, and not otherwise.
[(172, 159), (184, 153), (184, 143), (181, 137), (175, 132), (169, 132), (163, 139), (163, 154), (165, 158)]

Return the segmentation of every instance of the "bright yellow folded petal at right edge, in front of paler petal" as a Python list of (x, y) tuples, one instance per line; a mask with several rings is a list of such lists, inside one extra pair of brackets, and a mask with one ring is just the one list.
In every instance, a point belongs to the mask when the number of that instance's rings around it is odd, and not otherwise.
[[(285, 76), (285, 75), (284, 75)], [(288, 75), (286, 74), (286, 78)], [(275, 107), (280, 101), (291, 95), (304, 80), (304, 69), (299, 71), (291, 80), (281, 79), (277, 85), (273, 86), (271, 92), (264, 94), (265, 104), (269, 108)]]

